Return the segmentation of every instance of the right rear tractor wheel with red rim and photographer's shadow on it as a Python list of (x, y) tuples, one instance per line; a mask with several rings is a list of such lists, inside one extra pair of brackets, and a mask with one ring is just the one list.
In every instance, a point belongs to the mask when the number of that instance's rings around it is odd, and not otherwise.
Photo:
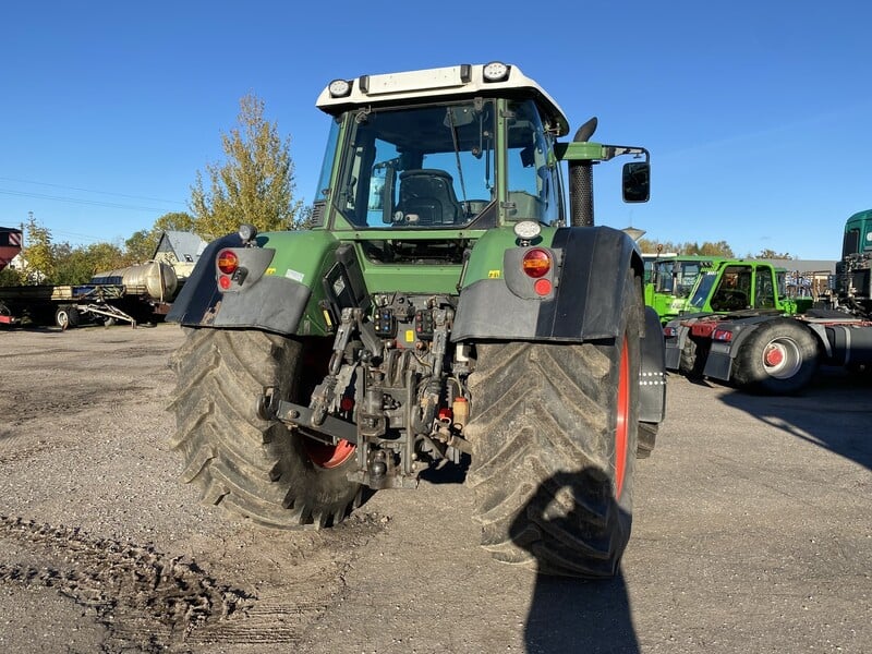
[(468, 483), (497, 560), (570, 577), (618, 570), (639, 428), (642, 308), (627, 283), (617, 339), (476, 346)]

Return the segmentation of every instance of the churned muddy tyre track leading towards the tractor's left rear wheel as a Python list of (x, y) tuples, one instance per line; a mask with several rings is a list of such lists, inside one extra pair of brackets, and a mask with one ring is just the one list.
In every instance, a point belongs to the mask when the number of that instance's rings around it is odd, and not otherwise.
[(286, 581), (270, 583), (269, 596), (258, 597), (152, 545), (0, 516), (0, 542), (13, 545), (9, 558), (19, 559), (0, 562), (0, 584), (53, 590), (72, 600), (107, 630), (104, 652), (293, 645), (341, 597), (353, 552), (385, 522), (364, 514), (342, 533), (307, 533), (286, 566)]

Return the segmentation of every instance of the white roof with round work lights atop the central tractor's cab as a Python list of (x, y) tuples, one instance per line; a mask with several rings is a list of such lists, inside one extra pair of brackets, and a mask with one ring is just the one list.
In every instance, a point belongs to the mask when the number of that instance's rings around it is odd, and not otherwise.
[(538, 102), (544, 118), (557, 129), (558, 135), (569, 132), (569, 121), (557, 102), (521, 69), (500, 62), (334, 80), (320, 93), (315, 105), (336, 116), (352, 107), (475, 96), (532, 97)]

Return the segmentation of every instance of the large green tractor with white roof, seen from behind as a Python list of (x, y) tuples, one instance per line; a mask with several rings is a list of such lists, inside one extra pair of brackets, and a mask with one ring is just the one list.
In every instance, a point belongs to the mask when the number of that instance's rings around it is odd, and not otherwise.
[(591, 142), (595, 119), (559, 143), (556, 102), (499, 62), (336, 80), (317, 107), (314, 227), (214, 241), (168, 316), (183, 479), (324, 528), (458, 465), (496, 559), (614, 574), (664, 342), (634, 242), (593, 226), (592, 169), (632, 156), (645, 202), (647, 152)]

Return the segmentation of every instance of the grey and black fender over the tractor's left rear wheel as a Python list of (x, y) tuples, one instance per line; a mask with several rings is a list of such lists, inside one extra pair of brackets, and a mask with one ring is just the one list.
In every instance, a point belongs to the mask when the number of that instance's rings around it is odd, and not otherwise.
[(293, 334), (305, 311), (311, 289), (284, 277), (261, 277), (244, 293), (221, 292), (215, 257), (223, 247), (242, 247), (238, 233), (209, 243), (182, 286), (166, 320), (185, 327), (252, 327)]

